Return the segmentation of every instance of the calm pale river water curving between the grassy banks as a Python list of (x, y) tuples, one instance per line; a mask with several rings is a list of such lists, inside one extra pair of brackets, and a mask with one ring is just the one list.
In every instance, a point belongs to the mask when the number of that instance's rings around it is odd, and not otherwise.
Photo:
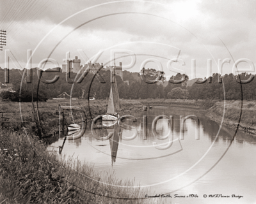
[[(93, 164), (102, 176), (115, 171), (118, 179), (135, 179), (136, 185), (150, 187), (150, 196), (170, 193), (170, 203), (256, 203), (256, 138), (238, 132), (232, 141), (233, 129), (220, 127), (200, 110), (154, 107), (132, 115), (137, 122), (124, 120), (130, 128), (96, 129), (94, 136), (88, 128), (82, 138), (67, 140), (62, 154)], [(153, 133), (157, 115), (172, 117), (157, 120)], [(180, 121), (187, 115), (198, 117), (199, 124), (186, 119), (182, 128)], [(114, 133), (109, 140), (95, 139), (109, 132)], [(51, 146), (62, 143), (63, 138)], [(173, 198), (175, 194), (198, 198)], [(204, 194), (243, 198), (204, 198)]]

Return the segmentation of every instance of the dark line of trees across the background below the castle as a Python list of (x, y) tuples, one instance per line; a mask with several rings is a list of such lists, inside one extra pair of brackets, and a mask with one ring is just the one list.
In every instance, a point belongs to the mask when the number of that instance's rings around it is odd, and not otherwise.
[[(31, 101), (32, 90), (34, 100), (46, 101), (50, 98), (56, 98), (62, 92), (67, 92), (74, 98), (108, 98), (110, 91), (110, 71), (106, 69), (100, 70), (98, 75), (88, 73), (80, 84), (70, 84), (66, 81), (79, 78), (81, 75), (76, 73), (52, 73), (44, 72), (39, 81), (37, 76), (37, 68), (33, 68), (33, 83), (27, 84), (22, 82), (22, 71), (17, 69), (10, 70), (10, 83), (13, 84), (15, 92), (1, 92), (0, 97), (5, 101)], [(154, 80), (157, 77), (156, 69), (145, 69), (145, 77), (148, 80)], [(45, 84), (46, 80), (51, 80), (55, 75), (59, 78), (52, 84)], [(167, 82), (163, 77), (159, 82), (148, 84), (140, 77), (140, 73), (131, 73), (123, 71), (123, 78), (116, 75), (116, 84), (120, 98), (123, 99), (206, 99), (206, 100), (255, 100), (256, 99), (256, 80), (252, 80), (247, 84), (239, 83), (239, 80), (246, 80), (253, 75), (242, 73), (239, 76), (232, 74), (221, 76), (214, 73), (203, 84), (196, 83), (202, 79), (189, 80), (186, 75), (172, 76)], [(26, 77), (25, 77), (26, 78)], [(77, 79), (76, 78), (76, 79)], [(4, 84), (4, 70), (0, 69), (0, 82)], [(38, 85), (38, 82), (39, 85)], [(102, 83), (104, 82), (104, 83)], [(129, 82), (129, 83), (127, 83)], [(211, 82), (211, 83), (209, 83)], [(221, 83), (220, 83), (221, 82)], [(167, 84), (167, 85), (166, 85)], [(83, 94), (84, 92), (84, 94)]]

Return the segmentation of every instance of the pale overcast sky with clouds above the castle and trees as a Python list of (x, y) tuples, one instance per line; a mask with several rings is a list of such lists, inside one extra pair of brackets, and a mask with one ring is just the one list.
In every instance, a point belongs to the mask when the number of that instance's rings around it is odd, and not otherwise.
[[(22, 68), (28, 49), (33, 50), (33, 67), (47, 57), (61, 66), (66, 52), (84, 64), (102, 50), (97, 62), (105, 66), (116, 52), (116, 64), (129, 65), (133, 59), (132, 68), (125, 67), (129, 71), (140, 71), (152, 59), (145, 68), (162, 66), (167, 76), (180, 72), (189, 78), (193, 59), (196, 77), (207, 75), (207, 59), (212, 73), (218, 72), (218, 59), (231, 59), (223, 73), (232, 73), (239, 59), (255, 64), (256, 1), (1, 0), (0, 15), (0, 29), (7, 31), (3, 50), (10, 49)], [(179, 60), (172, 66), (180, 70), (168, 67), (177, 57), (184, 66)], [(4, 51), (0, 66), (4, 68)], [(250, 66), (241, 62), (238, 68)]]

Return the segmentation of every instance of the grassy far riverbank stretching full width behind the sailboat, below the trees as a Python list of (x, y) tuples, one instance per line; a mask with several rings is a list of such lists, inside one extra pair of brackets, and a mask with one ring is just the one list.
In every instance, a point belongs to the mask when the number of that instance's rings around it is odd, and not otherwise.
[[(239, 122), (239, 115), (241, 112), (241, 103), (239, 101), (225, 101), (226, 109), (223, 124), (236, 128)], [(54, 133), (58, 132), (59, 127), (59, 113), (58, 105), (69, 106), (69, 101), (52, 101), (52, 102), (39, 102), (40, 119), (44, 126), (44, 131), (48, 138), (54, 136)], [(224, 101), (206, 101), (206, 100), (184, 100), (184, 99), (120, 99), (121, 110), (118, 112), (120, 115), (126, 115), (131, 112), (142, 111), (143, 106), (172, 106), (182, 108), (193, 108), (198, 110), (206, 110), (206, 116), (210, 119), (221, 122), (224, 110)], [(90, 123), (92, 118), (97, 117), (107, 112), (108, 100), (100, 99), (95, 101), (72, 101), (72, 106), (77, 106), (84, 110), (86, 113), (86, 119)], [(239, 129), (246, 133), (256, 134), (256, 116), (255, 116), (256, 102), (243, 101), (243, 114), (241, 115), (241, 121), (239, 123)], [(22, 110), (24, 120), (31, 120), (31, 115), (26, 113), (31, 110), (31, 103), (0, 103), (1, 110)], [(20, 113), (9, 114), (10, 120), (15, 117), (20, 118)], [(1, 121), (0, 121), (1, 122)], [(72, 122), (72, 117), (67, 116), (67, 122)], [(22, 128), (26, 128), (28, 133), (36, 134), (35, 122), (29, 124), (21, 124), (14, 122), (6, 122), (3, 127), (11, 127), (15, 131), (19, 131)]]

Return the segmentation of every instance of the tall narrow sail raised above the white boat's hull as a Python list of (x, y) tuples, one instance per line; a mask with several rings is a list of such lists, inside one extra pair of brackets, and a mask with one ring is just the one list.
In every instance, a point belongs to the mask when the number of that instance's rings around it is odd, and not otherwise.
[(118, 89), (116, 85), (116, 78), (115, 78), (115, 68), (111, 68), (110, 73), (110, 94), (108, 100), (108, 111), (107, 113), (115, 114), (120, 110), (120, 100)]

